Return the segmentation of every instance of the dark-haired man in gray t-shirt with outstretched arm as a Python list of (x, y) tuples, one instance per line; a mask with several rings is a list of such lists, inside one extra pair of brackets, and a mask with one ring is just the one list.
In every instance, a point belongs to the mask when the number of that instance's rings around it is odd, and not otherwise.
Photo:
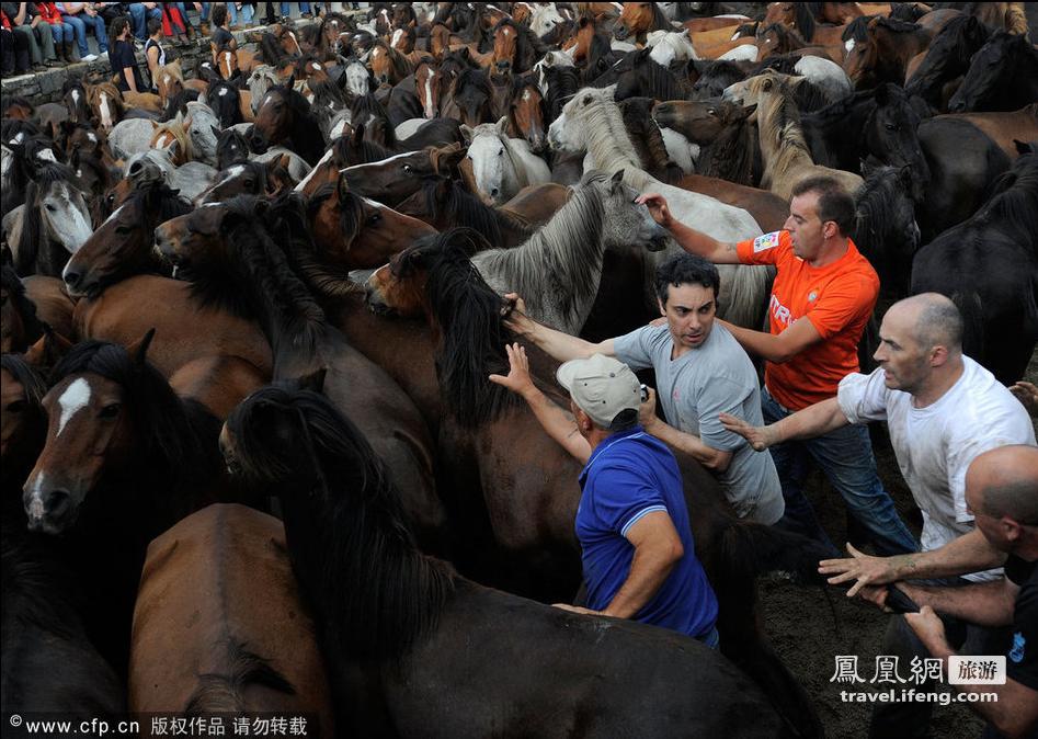
[(645, 430), (716, 475), (740, 518), (771, 525), (785, 512), (775, 464), (771, 455), (755, 454), (744, 439), (726, 431), (718, 419), (721, 412), (745, 413), (744, 418), (763, 422), (750, 357), (714, 320), (719, 285), (716, 266), (683, 252), (657, 270), (655, 292), (665, 326), (647, 326), (593, 344), (541, 326), (521, 310), (513, 311), (507, 322), (560, 362), (598, 353), (634, 367), (653, 367), (666, 422), (655, 414), (653, 394), (639, 413)]

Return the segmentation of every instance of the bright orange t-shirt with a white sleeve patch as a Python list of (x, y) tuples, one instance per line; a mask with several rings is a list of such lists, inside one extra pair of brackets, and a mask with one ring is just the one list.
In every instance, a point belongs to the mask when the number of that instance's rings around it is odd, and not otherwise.
[(879, 296), (876, 270), (851, 239), (847, 253), (823, 268), (792, 253), (789, 231), (740, 241), (738, 250), (744, 264), (778, 270), (767, 310), (772, 333), (807, 317), (822, 337), (788, 362), (765, 365), (768, 393), (790, 410), (834, 397), (840, 380), (858, 372), (858, 341)]

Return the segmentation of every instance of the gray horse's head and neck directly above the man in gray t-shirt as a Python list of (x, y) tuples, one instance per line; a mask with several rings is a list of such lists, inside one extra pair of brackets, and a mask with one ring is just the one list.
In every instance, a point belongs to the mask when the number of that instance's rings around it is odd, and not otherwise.
[(522, 295), (536, 321), (577, 336), (598, 294), (605, 250), (662, 251), (671, 240), (637, 196), (623, 172), (592, 170), (526, 241), (478, 252), (472, 264), (497, 292)]

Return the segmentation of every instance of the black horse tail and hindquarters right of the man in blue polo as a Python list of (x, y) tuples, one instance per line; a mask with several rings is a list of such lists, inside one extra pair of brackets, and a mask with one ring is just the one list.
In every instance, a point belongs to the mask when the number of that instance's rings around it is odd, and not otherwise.
[(818, 561), (828, 549), (813, 539), (738, 521), (722, 524), (716, 544), (711, 581), (720, 607), (721, 650), (768, 696), (785, 725), (784, 736), (824, 737), (807, 691), (764, 638), (755, 580), (762, 572), (786, 570), (802, 581), (819, 581)]

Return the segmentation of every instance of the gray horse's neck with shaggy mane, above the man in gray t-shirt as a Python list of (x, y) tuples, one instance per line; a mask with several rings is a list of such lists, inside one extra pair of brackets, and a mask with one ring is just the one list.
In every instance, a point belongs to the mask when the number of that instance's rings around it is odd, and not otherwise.
[[(578, 321), (583, 322), (598, 292), (604, 220), (602, 196), (594, 185), (586, 184), (520, 247), (486, 251), (472, 261), (488, 282), (512, 285), (510, 289), (523, 295), (534, 312), (545, 315), (554, 309), (568, 328), (574, 328)], [(549, 275), (567, 288), (546, 292)], [(549, 302), (556, 303), (549, 306)], [(579, 330), (575, 326), (572, 332)]]

